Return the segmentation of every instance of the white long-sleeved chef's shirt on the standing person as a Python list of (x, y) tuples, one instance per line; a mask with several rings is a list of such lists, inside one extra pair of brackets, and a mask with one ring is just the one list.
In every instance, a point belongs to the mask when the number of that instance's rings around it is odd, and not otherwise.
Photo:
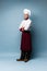
[(30, 31), (31, 25), (32, 25), (32, 21), (30, 19), (28, 20), (23, 20), (19, 28), (24, 27), (25, 31)]

